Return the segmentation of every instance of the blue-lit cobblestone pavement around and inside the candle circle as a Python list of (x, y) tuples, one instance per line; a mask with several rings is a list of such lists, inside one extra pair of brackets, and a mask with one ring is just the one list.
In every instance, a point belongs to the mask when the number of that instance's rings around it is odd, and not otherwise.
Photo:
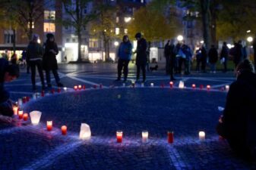
[[(144, 88), (134, 80), (131, 65), (129, 81), (115, 82), (116, 65), (62, 65), (60, 76), (68, 91), (48, 94), (22, 106), (29, 113), (40, 110), (39, 125), (30, 121), (0, 124), (0, 169), (255, 169), (255, 162), (239, 159), (220, 140), (215, 125), (225, 105), (232, 73), (176, 76), (174, 88), (163, 70), (148, 73)], [(177, 88), (179, 80), (185, 89)], [(39, 80), (37, 80), (39, 81)], [(154, 87), (150, 87), (150, 83)], [(55, 82), (52, 79), (52, 85)], [(100, 84), (103, 88), (100, 88)], [(197, 85), (196, 89), (191, 85)], [(74, 91), (74, 85), (86, 90)], [(97, 88), (93, 88), (97, 85)], [(164, 87), (162, 87), (164, 85)], [(204, 89), (199, 89), (204, 85)], [(205, 89), (211, 85), (210, 91)], [(15, 82), (6, 84), (11, 98), (32, 97), (30, 78), (24, 72)], [(40, 92), (40, 84), (38, 91)], [(53, 121), (46, 131), (46, 121)], [(90, 125), (92, 138), (79, 139), (81, 123)], [(60, 127), (68, 126), (63, 136)], [(115, 131), (124, 133), (116, 143)], [(141, 131), (149, 131), (149, 140), (141, 140)], [(167, 131), (174, 131), (174, 143), (167, 143)], [(206, 139), (198, 139), (205, 131)]]

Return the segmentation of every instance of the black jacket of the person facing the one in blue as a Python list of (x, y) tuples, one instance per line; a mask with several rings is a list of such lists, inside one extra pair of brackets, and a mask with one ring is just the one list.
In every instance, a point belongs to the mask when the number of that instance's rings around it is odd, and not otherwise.
[(137, 41), (137, 57), (136, 64), (144, 66), (147, 63), (147, 42), (146, 39), (140, 39)]

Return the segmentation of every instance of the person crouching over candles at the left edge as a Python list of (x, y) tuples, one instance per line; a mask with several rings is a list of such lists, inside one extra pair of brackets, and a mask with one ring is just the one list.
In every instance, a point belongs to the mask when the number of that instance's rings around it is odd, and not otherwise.
[(16, 64), (9, 65), (8, 60), (0, 59), (0, 115), (13, 116), (10, 94), (5, 90), (5, 82), (11, 82), (20, 76), (19, 67)]

